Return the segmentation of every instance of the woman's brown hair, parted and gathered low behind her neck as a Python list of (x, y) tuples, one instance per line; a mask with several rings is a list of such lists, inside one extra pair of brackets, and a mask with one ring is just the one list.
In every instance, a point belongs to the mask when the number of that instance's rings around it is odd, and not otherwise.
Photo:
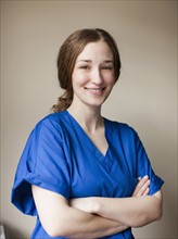
[(79, 29), (73, 33), (61, 46), (58, 55), (58, 78), (60, 87), (65, 92), (59, 98), (58, 104), (54, 104), (53, 112), (65, 111), (73, 101), (73, 83), (72, 75), (77, 56), (81, 53), (87, 43), (103, 40), (109, 45), (113, 53), (115, 81), (120, 73), (120, 58), (117, 45), (113, 37), (104, 29)]

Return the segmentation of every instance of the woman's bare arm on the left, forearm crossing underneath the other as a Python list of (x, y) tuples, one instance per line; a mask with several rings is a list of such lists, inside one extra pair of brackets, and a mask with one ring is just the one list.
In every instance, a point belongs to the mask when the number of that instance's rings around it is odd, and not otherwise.
[(55, 192), (37, 186), (31, 189), (40, 222), (51, 237), (100, 238), (128, 228), (123, 223), (74, 209)]

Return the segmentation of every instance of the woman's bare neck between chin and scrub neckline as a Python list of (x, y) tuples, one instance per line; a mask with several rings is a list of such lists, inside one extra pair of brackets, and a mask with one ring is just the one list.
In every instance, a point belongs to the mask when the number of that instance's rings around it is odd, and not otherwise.
[(75, 108), (73, 104), (67, 109), (69, 114), (79, 123), (79, 125), (88, 133), (94, 133), (103, 127), (103, 117), (101, 116), (101, 106)]

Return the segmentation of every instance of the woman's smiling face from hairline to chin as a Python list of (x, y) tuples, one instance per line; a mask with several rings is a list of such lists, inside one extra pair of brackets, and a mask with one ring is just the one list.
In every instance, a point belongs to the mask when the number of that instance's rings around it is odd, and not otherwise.
[(101, 106), (114, 83), (114, 62), (110, 47), (102, 40), (88, 43), (76, 59), (73, 75), (73, 102)]

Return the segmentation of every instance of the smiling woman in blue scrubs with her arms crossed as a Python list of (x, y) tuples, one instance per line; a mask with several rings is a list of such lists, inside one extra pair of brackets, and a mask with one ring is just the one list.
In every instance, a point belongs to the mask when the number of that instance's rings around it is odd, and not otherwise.
[(117, 46), (103, 29), (72, 34), (60, 49), (65, 90), (30, 134), (12, 202), (37, 216), (31, 238), (134, 238), (162, 215), (163, 180), (137, 133), (101, 115), (120, 73)]

